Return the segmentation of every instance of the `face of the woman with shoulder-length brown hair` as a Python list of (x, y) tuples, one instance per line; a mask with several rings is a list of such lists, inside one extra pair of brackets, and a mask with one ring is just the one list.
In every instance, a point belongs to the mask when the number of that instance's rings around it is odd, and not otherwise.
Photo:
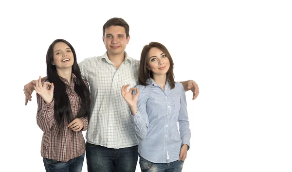
[(152, 70), (154, 75), (166, 75), (169, 69), (169, 59), (160, 49), (153, 47), (148, 52), (147, 68)]

